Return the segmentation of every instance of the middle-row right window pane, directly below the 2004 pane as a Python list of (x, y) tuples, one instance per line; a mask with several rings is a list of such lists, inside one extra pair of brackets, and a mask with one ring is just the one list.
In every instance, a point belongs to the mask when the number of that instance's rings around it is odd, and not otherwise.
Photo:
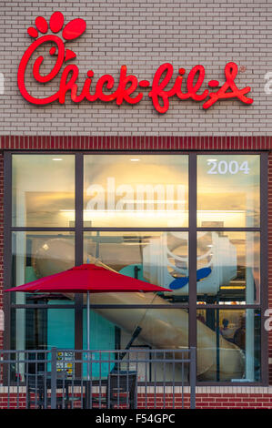
[(258, 232), (197, 233), (197, 300), (202, 303), (259, 302)]

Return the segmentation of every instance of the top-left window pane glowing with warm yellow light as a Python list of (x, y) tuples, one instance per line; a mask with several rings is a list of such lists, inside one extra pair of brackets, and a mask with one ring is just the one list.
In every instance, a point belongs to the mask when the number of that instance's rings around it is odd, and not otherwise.
[(13, 226), (72, 227), (75, 157), (13, 155), (12, 162)]

